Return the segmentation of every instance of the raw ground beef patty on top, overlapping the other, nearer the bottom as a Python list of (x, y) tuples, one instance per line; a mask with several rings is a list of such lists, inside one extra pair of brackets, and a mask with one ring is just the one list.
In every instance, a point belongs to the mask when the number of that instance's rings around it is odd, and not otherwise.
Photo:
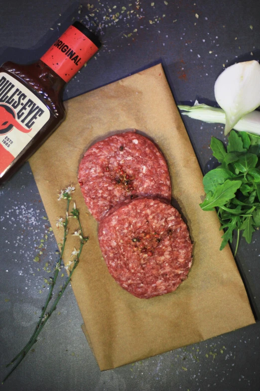
[(175, 291), (192, 263), (186, 224), (158, 199), (113, 208), (100, 223), (99, 244), (111, 275), (138, 298)]

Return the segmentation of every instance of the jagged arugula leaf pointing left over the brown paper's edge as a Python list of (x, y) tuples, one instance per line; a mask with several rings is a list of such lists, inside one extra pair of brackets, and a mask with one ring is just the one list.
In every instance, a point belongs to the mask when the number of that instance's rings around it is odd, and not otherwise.
[(235, 197), (235, 193), (241, 186), (241, 181), (231, 181), (227, 179), (222, 185), (218, 185), (212, 194), (210, 191), (205, 200), (200, 204), (203, 210), (214, 210), (214, 207), (221, 206)]

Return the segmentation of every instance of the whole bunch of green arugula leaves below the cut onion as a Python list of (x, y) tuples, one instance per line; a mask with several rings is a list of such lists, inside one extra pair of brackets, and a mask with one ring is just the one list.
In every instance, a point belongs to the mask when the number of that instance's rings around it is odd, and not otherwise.
[(232, 130), (227, 149), (215, 137), (210, 146), (221, 165), (204, 176), (206, 197), (200, 207), (218, 209), (220, 229), (225, 231), (220, 250), (232, 243), (237, 231), (236, 255), (240, 232), (251, 243), (260, 227), (260, 136)]

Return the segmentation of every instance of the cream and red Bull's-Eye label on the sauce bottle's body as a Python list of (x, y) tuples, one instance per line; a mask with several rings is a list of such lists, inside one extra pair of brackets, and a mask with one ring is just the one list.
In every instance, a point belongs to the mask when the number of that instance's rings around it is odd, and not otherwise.
[(0, 72), (0, 177), (50, 118), (50, 111), (28, 88)]

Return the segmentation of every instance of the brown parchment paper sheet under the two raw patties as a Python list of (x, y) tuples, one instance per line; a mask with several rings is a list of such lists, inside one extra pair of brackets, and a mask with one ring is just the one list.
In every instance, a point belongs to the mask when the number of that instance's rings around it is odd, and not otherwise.
[[(101, 370), (206, 340), (255, 322), (245, 287), (227, 246), (219, 251), (222, 232), (214, 212), (199, 203), (202, 173), (165, 78), (161, 64), (67, 102), (66, 121), (30, 159), (41, 198), (57, 242), (62, 232), (56, 217), (66, 201), (57, 190), (73, 183), (80, 208), (84, 246), (72, 287), (83, 330)], [(172, 196), (187, 221), (194, 242), (188, 279), (173, 293), (138, 299), (110, 276), (97, 238), (97, 222), (87, 212), (77, 184), (79, 160), (96, 140), (118, 129), (135, 128), (152, 138), (164, 153)], [(73, 233), (75, 219), (71, 219)], [(74, 224), (74, 225), (73, 225)], [(65, 259), (75, 237), (69, 235)]]

